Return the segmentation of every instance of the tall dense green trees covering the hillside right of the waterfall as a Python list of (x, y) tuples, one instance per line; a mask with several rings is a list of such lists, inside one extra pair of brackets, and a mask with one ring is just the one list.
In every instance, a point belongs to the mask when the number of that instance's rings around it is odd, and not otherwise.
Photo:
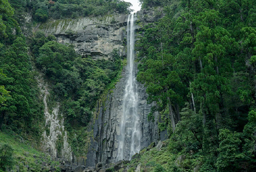
[(178, 17), (171, 1), (141, 2), (165, 6), (140, 32), (138, 80), (157, 102), (170, 154), (186, 157), (178, 169), (193, 171), (196, 161), (202, 172), (253, 171), (256, 1), (181, 0)]

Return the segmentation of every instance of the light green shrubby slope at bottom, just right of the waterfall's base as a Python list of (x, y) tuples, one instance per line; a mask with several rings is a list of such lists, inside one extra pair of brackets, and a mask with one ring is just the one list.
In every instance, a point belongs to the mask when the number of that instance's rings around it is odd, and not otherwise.
[[(151, 145), (133, 156), (127, 164), (128, 172), (134, 172), (140, 165), (143, 172), (194, 172), (201, 165), (202, 155), (187, 152), (174, 154), (170, 150), (170, 140), (163, 142), (163, 147), (158, 151)], [(119, 170), (122, 172), (122, 170)]]

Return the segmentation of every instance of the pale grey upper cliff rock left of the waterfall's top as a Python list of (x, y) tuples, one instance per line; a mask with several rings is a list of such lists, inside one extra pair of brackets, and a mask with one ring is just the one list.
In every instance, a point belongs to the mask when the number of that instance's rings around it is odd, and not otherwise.
[(126, 54), (126, 24), (127, 16), (118, 14), (51, 20), (38, 25), (34, 31), (42, 30), (46, 34), (54, 34), (57, 42), (74, 45), (76, 52), (82, 56), (110, 59), (110, 54), (115, 48), (120, 55)]

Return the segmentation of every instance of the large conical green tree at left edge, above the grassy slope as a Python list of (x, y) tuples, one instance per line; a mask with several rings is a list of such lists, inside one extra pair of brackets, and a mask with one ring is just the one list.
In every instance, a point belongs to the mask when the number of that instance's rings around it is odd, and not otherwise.
[[(0, 77), (0, 85), (10, 91), (10, 96), (6, 97), (6, 106), (0, 108), (2, 124), (8, 125), (16, 132), (38, 132), (31, 130), (34, 127), (36, 119), (42, 118), (40, 114), (40, 105), (36, 94), (36, 82), (33, 80), (33, 74), (30, 71), (28, 63), (29, 56), (24, 38), (18, 37), (13, 41), (10, 48), (6, 49), (0, 58), (0, 68), (6, 76)], [(31, 122), (35, 120), (34, 122)]]

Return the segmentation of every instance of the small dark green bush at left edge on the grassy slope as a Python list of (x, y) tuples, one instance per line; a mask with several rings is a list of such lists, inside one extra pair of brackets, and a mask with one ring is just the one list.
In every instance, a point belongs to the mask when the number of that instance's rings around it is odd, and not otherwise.
[(13, 165), (13, 149), (8, 144), (0, 146), (0, 169), (7, 170)]

